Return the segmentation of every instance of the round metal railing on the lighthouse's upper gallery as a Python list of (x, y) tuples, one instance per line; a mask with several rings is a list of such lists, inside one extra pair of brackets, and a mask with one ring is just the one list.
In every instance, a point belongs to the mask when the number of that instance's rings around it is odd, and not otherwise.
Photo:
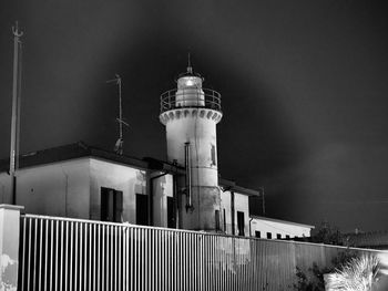
[[(194, 91), (197, 93), (193, 94)], [(174, 89), (161, 95), (161, 113), (184, 107), (205, 107), (221, 112), (221, 94), (214, 90), (202, 89), (203, 93), (193, 89), (180, 90), (178, 94), (176, 92), (177, 90)]]

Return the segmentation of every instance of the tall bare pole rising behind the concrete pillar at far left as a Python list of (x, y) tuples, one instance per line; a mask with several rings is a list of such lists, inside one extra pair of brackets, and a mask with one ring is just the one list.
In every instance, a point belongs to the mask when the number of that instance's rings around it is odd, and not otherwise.
[(17, 177), (19, 155), (19, 122), (20, 122), (20, 87), (21, 87), (21, 41), (23, 32), (19, 31), (18, 21), (12, 27), (13, 33), (13, 84), (12, 84), (12, 117), (11, 117), (11, 149), (10, 149), (10, 176), (12, 204), (17, 204)]

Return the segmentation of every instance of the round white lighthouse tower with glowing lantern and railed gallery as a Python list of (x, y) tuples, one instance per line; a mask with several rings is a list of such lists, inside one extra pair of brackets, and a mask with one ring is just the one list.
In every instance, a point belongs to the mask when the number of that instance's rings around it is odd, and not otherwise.
[(180, 228), (216, 231), (221, 225), (216, 146), (221, 95), (203, 89), (203, 82), (188, 61), (177, 87), (161, 95), (160, 121), (166, 127), (169, 162), (186, 169), (177, 180)]

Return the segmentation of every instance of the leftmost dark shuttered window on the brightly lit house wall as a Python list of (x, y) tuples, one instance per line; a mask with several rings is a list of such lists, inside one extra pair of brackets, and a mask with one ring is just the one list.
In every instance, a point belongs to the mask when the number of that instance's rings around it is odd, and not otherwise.
[(123, 193), (101, 187), (101, 220), (122, 222)]

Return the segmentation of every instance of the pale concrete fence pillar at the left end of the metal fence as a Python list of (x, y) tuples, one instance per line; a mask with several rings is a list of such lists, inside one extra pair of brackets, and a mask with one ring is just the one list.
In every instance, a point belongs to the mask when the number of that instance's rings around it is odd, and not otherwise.
[(19, 229), (22, 206), (0, 205), (0, 290), (18, 289)]

